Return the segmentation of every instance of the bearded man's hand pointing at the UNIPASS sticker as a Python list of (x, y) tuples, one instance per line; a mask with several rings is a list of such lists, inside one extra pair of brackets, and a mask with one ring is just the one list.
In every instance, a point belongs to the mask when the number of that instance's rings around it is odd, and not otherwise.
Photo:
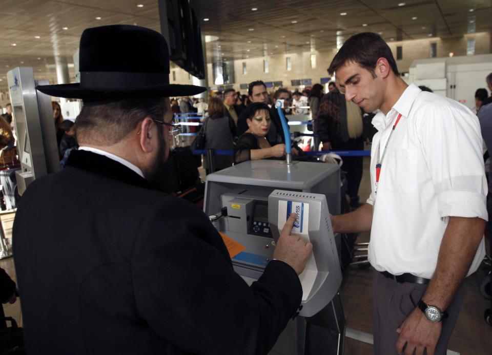
[(288, 263), (299, 275), (306, 266), (313, 244), (305, 243), (300, 237), (291, 235), (295, 220), (296, 214), (292, 213), (285, 222), (282, 232), (280, 232), (273, 258)]

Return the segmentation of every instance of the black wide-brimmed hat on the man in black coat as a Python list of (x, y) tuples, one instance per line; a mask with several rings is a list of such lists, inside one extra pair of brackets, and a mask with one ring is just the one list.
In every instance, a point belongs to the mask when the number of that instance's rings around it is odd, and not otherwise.
[(88, 28), (80, 37), (80, 83), (36, 89), (56, 97), (107, 101), (140, 96), (188, 96), (206, 88), (169, 83), (166, 39), (129, 25)]

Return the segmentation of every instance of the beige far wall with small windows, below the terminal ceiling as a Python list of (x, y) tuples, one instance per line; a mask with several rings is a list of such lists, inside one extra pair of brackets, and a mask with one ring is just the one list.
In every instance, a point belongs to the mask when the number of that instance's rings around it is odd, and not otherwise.
[[(396, 58), (396, 47), (403, 47), (403, 59), (397, 61), (400, 72), (408, 72), (409, 67), (415, 59), (429, 58), (430, 44), (437, 43), (437, 56), (448, 56), (449, 52), (454, 52), (455, 56), (466, 55), (466, 41), (468, 38), (475, 38), (475, 54), (491, 52), (491, 39), (489, 32), (481, 32), (465, 35), (457, 38), (440, 39), (439, 37), (406, 40), (399, 42), (389, 42), (393, 55)], [(316, 68), (311, 68), (310, 55), (316, 54)], [(279, 54), (268, 57), (247, 58), (234, 61), (235, 82), (234, 89), (245, 93), (245, 89), (240, 89), (240, 83), (249, 83), (261, 79), (263, 81), (283, 81), (283, 86), (290, 90), (292, 79), (312, 79), (312, 83), (320, 81), (321, 77), (329, 76), (326, 69), (336, 54), (336, 50), (313, 51), (304, 53)], [(285, 58), (291, 57), (292, 71), (286, 70)], [(269, 61), (269, 73), (263, 72), (263, 60)], [(246, 64), (247, 74), (242, 73), (242, 63)], [(215, 87), (213, 82), (212, 64), (207, 65), (208, 85)], [(184, 83), (184, 82), (183, 82)]]

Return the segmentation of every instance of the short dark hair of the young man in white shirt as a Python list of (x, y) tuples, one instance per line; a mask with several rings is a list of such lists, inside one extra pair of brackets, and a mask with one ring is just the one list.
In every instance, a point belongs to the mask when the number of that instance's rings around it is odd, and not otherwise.
[(348, 38), (338, 51), (328, 68), (328, 72), (333, 74), (345, 62), (353, 61), (362, 68), (370, 71), (374, 75), (374, 68), (379, 58), (385, 58), (393, 73), (398, 74), (395, 58), (389, 46), (380, 35), (372, 32), (363, 32)]

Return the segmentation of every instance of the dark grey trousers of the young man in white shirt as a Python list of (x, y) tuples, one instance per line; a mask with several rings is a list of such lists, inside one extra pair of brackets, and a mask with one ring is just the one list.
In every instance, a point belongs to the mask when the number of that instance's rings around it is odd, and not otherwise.
[[(396, 329), (412, 313), (425, 293), (428, 285), (398, 283), (382, 276), (376, 270), (373, 275), (374, 308), (374, 354), (396, 354), (396, 342), (400, 336)], [(451, 333), (455, 328), (464, 297), (464, 286), (458, 288), (453, 301), (446, 311), (448, 318), (442, 321), (441, 337), (437, 343), (436, 355), (445, 355)], [(425, 353), (425, 352), (424, 352)]]

